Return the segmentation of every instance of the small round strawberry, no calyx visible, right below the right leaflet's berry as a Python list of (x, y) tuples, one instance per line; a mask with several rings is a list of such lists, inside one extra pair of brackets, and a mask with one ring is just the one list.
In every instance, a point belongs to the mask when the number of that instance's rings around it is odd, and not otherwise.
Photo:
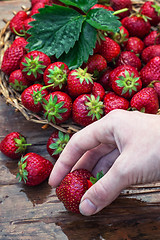
[(144, 42), (137, 37), (130, 37), (126, 44), (126, 50), (134, 52), (135, 54), (141, 54), (144, 49)]

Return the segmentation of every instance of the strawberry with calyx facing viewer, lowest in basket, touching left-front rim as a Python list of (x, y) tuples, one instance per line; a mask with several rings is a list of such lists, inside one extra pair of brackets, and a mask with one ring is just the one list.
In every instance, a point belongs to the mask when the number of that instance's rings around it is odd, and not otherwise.
[(67, 121), (72, 110), (72, 100), (70, 96), (61, 91), (48, 94), (43, 99), (44, 116), (49, 122), (60, 124)]

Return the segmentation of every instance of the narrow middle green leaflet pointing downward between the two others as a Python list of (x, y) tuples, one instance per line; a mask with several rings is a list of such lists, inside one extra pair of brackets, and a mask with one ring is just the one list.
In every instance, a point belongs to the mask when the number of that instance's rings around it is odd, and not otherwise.
[(96, 29), (84, 22), (79, 41), (75, 43), (68, 54), (63, 54), (60, 57), (60, 61), (66, 63), (70, 69), (78, 68), (83, 62), (87, 62), (89, 55), (93, 54), (96, 35)]

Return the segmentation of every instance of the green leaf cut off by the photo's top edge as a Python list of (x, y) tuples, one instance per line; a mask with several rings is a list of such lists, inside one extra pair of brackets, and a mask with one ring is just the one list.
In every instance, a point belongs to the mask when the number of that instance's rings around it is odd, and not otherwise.
[(97, 0), (60, 0), (66, 5), (71, 5), (77, 8), (80, 8), (82, 11), (87, 12), (93, 5), (95, 5)]

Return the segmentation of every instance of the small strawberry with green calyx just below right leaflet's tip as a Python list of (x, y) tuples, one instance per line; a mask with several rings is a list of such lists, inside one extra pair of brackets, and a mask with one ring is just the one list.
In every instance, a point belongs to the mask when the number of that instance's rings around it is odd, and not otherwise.
[(114, 34), (111, 34), (112, 39), (117, 42), (120, 46), (125, 47), (129, 38), (128, 30), (121, 26), (119, 27), (120, 31)]

